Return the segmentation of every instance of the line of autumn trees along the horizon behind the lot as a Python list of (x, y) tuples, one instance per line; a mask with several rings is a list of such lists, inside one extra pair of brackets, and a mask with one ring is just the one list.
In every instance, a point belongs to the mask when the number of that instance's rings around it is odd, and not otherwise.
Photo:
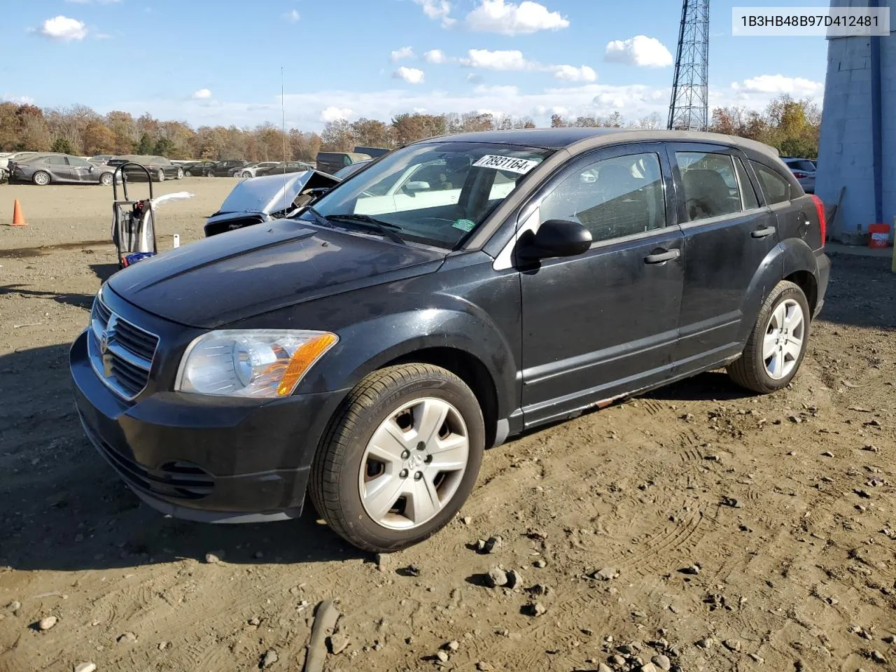
[[(620, 113), (608, 116), (565, 118), (555, 114), (552, 126), (609, 128), (662, 128), (656, 113), (626, 120)], [(814, 157), (818, 152), (821, 113), (811, 100), (779, 96), (762, 111), (715, 108), (711, 131), (740, 135), (777, 147), (782, 154)], [(134, 118), (127, 112), (99, 115), (84, 105), (39, 108), (0, 103), (0, 151), (59, 151), (66, 154), (159, 154), (169, 159), (288, 159), (313, 161), (318, 151), (351, 151), (358, 145), (393, 148), (435, 135), (535, 128), (528, 116), (495, 116), (486, 112), (430, 115), (400, 114), (389, 121), (360, 118), (328, 122), (320, 134), (270, 123), (254, 128), (193, 126), (183, 121), (162, 121), (150, 114)]]

